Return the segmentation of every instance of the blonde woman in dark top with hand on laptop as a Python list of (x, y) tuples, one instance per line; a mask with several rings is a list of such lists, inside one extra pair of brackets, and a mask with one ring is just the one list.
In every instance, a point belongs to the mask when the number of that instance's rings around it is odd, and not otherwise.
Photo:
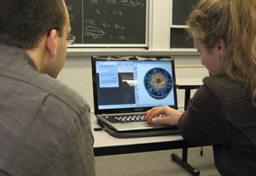
[(212, 145), (220, 174), (256, 175), (256, 1), (201, 0), (187, 24), (210, 77), (184, 113), (155, 107), (146, 119), (177, 125), (192, 145)]

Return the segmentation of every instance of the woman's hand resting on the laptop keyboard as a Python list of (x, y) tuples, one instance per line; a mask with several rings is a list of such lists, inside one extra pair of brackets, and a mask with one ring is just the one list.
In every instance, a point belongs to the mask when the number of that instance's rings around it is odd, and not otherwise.
[[(149, 111), (146, 111), (145, 120), (147, 123), (166, 123), (168, 125), (177, 125), (178, 119), (183, 115), (182, 112), (172, 109), (171, 107), (165, 105), (160, 107), (154, 107)], [(155, 116), (165, 115), (166, 117), (155, 118)]]

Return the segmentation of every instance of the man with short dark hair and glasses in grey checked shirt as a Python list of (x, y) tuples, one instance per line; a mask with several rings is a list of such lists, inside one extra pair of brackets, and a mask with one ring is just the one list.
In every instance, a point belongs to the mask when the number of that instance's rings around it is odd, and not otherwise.
[(0, 1), (0, 175), (96, 175), (90, 107), (55, 79), (64, 0)]

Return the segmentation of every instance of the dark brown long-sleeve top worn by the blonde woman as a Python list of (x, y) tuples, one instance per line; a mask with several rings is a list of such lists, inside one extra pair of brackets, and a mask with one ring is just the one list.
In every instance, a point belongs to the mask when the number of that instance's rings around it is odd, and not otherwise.
[(178, 122), (193, 145), (213, 145), (221, 175), (256, 175), (256, 108), (252, 94), (227, 76), (206, 77)]

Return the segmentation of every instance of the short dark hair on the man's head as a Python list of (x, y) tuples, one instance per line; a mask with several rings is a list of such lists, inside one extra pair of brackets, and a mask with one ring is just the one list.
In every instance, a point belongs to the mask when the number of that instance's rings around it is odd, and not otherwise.
[[(22, 49), (38, 47), (52, 29), (66, 22), (63, 0), (0, 0), (0, 40)], [(61, 37), (61, 31), (58, 31)]]

